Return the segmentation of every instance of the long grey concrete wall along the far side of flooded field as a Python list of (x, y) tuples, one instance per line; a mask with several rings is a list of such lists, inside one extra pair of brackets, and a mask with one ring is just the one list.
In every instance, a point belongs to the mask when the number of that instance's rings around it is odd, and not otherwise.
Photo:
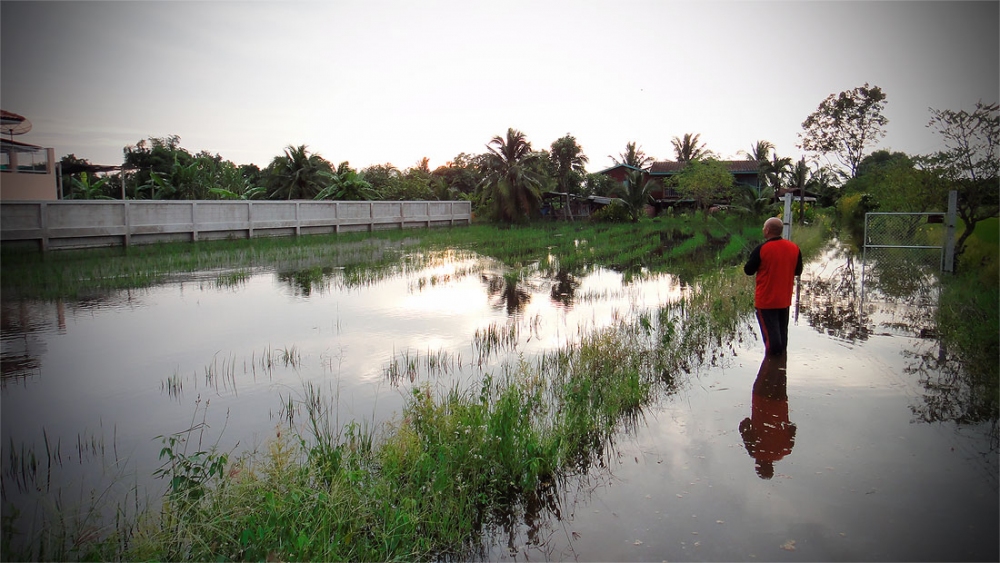
[(42, 250), (468, 225), (467, 201), (17, 201), (0, 242)]

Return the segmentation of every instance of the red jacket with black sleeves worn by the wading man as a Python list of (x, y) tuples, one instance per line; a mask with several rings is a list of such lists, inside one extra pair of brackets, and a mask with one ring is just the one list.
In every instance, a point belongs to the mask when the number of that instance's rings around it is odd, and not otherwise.
[(802, 252), (790, 240), (768, 239), (753, 249), (743, 271), (757, 274), (754, 307), (784, 309), (792, 305), (795, 276), (802, 274)]

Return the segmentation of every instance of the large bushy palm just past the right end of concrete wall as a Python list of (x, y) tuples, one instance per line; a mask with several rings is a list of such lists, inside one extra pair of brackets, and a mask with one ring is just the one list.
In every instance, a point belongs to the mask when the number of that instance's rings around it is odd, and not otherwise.
[(497, 219), (507, 222), (533, 216), (542, 201), (542, 179), (531, 152), (531, 143), (524, 133), (509, 128), (507, 137), (497, 135), (486, 146), (483, 155), (483, 203), (492, 205)]

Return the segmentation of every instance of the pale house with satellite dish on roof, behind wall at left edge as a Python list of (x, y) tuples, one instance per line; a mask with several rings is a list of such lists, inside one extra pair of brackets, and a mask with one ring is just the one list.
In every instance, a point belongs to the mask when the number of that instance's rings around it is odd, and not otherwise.
[(55, 149), (15, 141), (31, 129), (16, 113), (0, 110), (0, 124), (0, 200), (59, 199)]

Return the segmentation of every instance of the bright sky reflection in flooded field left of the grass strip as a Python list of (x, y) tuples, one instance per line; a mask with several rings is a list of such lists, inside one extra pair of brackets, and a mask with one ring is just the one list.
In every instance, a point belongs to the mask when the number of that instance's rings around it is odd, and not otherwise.
[[(360, 287), (344, 287), (341, 275), (332, 271), (308, 294), (273, 273), (225, 286), (202, 273), (86, 302), (4, 304), (4, 444), (39, 440), (43, 429), (64, 452), (78, 439), (110, 446), (117, 437), (119, 453), (148, 474), (158, 465), (153, 438), (190, 426), (199, 397), (209, 403), (208, 436), (225, 424), (222, 444), (241, 448), (272, 435), (283, 404), (301, 399), (307, 383), (339, 398), (341, 423), (384, 420), (411, 385), (389, 381), (394, 361), (415, 359), (416, 383), (469, 385), (500, 361), (479, 365), (477, 330), (514, 323), (518, 345), (508, 357), (516, 358), (679, 291), (671, 276), (623, 285), (620, 274), (598, 270), (577, 280), (579, 298), (566, 306), (552, 297), (555, 281), (529, 270), (518, 282), (526, 298), (509, 316), (488, 293), (488, 278), (503, 279), (490, 262), (439, 260)], [(282, 361), (286, 353), (294, 365)], [(429, 356), (445, 373), (430, 373)], [(34, 363), (14, 363), (23, 358)]]

